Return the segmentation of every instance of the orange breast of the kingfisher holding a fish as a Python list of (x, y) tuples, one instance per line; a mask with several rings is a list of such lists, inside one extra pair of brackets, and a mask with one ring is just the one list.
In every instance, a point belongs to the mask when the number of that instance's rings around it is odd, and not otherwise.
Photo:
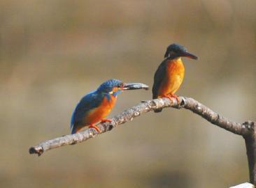
[(99, 107), (92, 109), (87, 116), (85, 116), (85, 124), (90, 125), (99, 122), (111, 112), (113, 109), (115, 102), (117, 100), (116, 96), (111, 95), (110, 100), (107, 97), (104, 97), (103, 101), (99, 105)]

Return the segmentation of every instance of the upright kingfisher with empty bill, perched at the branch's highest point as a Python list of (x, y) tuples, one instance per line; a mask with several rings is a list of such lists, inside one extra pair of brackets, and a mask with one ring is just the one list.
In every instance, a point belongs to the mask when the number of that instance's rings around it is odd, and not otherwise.
[[(171, 44), (167, 47), (164, 54), (164, 61), (159, 65), (155, 72), (154, 85), (152, 87), (153, 99), (160, 97), (175, 98), (178, 101), (176, 91), (183, 82), (185, 68), (181, 57), (187, 57), (197, 60), (197, 56), (187, 52), (182, 45)], [(156, 109), (160, 112), (162, 109)]]

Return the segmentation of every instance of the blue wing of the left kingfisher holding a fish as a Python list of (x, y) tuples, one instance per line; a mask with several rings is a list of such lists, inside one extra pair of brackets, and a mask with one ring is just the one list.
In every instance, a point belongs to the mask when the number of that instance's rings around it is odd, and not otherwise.
[(76, 105), (76, 108), (73, 111), (71, 117), (71, 124), (70, 128), (72, 129), (73, 126), (83, 124), (83, 120), (86, 116), (86, 113), (90, 110), (99, 107), (99, 104), (102, 102), (102, 96), (96, 91), (92, 91), (85, 95), (80, 102)]

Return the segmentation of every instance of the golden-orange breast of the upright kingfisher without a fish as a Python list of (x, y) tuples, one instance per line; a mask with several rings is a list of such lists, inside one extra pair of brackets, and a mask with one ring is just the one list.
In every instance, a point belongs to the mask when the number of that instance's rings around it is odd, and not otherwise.
[(180, 58), (170, 60), (166, 65), (166, 74), (159, 87), (158, 95), (174, 94), (183, 82), (185, 68)]

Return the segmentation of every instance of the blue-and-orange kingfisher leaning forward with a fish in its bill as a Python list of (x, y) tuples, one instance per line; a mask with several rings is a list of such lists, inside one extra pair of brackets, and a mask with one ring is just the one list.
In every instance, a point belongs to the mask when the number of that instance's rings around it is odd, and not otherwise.
[(109, 79), (97, 88), (87, 93), (73, 111), (71, 117), (71, 134), (79, 132), (83, 127), (92, 127), (100, 132), (99, 127), (94, 125), (97, 122), (111, 122), (105, 118), (113, 109), (118, 94), (122, 91), (134, 89), (148, 89), (148, 86), (141, 83), (123, 83), (118, 79)]

